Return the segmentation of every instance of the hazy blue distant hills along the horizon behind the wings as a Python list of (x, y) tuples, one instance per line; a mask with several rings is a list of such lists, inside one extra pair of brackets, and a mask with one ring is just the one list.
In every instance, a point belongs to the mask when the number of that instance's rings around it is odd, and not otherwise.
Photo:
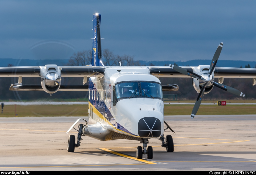
[[(211, 60), (189, 60), (189, 61), (139, 61), (140, 65), (155, 65), (164, 66), (169, 64), (178, 64), (178, 66), (198, 66), (198, 65), (209, 65)], [(29, 59), (12, 59), (12, 58), (1, 58), (0, 67), (7, 67), (8, 64), (13, 64), (14, 66), (33, 66), (33, 65), (46, 65), (46, 64), (57, 64), (57, 65), (67, 65), (68, 59), (56, 59), (56, 60), (29, 60)], [(250, 64), (251, 68), (256, 67), (256, 61), (233, 61), (233, 60), (218, 60), (217, 67), (234, 67), (243, 68), (245, 65)]]

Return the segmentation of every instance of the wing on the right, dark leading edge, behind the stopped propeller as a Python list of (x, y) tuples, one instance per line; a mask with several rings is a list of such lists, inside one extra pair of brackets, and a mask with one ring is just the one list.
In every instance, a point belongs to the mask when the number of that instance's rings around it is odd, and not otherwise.
[[(193, 72), (194, 67), (181, 66), (190, 72)], [(171, 67), (167, 66), (148, 66), (150, 70), (150, 74), (157, 77), (188, 77)], [(255, 78), (256, 77), (256, 69), (251, 68), (229, 68), (229, 67), (215, 67), (214, 77), (216, 78)]]

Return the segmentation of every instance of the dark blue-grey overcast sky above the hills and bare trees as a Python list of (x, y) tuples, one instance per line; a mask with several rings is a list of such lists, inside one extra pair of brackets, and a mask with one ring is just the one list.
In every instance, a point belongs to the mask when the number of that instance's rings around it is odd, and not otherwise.
[(0, 58), (68, 59), (102, 49), (136, 60), (256, 60), (256, 1), (0, 1)]

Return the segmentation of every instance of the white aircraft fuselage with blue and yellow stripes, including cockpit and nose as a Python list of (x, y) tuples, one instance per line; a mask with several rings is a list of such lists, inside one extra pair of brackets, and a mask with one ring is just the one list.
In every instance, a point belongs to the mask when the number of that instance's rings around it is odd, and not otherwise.
[(89, 78), (88, 114), (84, 134), (99, 140), (160, 137), (164, 132), (161, 82), (147, 67), (106, 66), (103, 77)]

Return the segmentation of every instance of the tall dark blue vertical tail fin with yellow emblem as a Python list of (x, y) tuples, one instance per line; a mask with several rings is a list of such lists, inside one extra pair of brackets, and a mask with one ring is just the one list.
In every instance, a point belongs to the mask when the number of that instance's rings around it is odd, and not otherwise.
[(100, 20), (100, 14), (93, 14), (92, 66), (103, 66), (101, 63)]

